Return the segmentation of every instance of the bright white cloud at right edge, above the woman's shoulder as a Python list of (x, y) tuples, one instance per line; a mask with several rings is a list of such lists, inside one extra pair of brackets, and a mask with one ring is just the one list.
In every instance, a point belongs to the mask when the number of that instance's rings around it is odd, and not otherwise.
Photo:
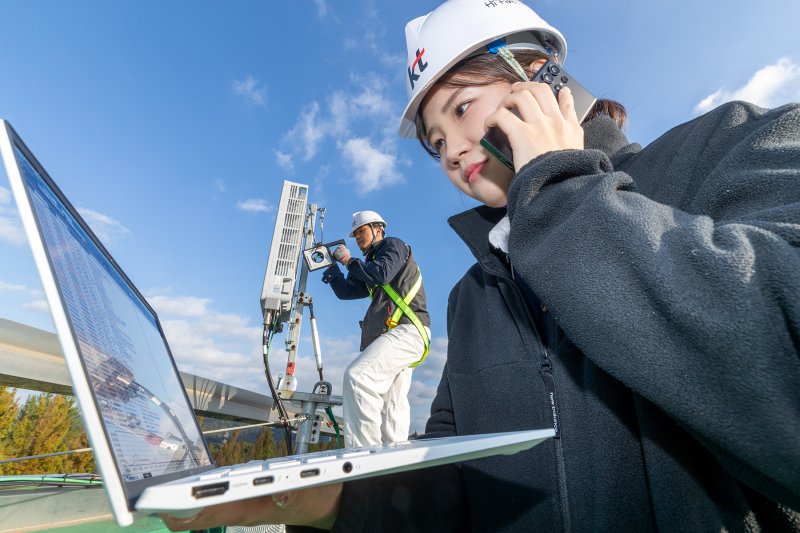
[(708, 95), (695, 106), (694, 112), (699, 115), (732, 100), (767, 108), (800, 100), (800, 65), (783, 57), (774, 65), (756, 71), (744, 86), (734, 90), (722, 87)]

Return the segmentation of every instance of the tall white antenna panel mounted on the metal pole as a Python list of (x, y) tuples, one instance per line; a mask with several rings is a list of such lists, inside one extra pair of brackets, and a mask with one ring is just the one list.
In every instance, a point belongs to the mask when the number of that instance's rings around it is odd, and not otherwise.
[(283, 182), (278, 217), (272, 233), (267, 272), (261, 288), (261, 311), (276, 311), (281, 322), (289, 320), (292, 308), (297, 262), (303, 244), (308, 204), (308, 185)]

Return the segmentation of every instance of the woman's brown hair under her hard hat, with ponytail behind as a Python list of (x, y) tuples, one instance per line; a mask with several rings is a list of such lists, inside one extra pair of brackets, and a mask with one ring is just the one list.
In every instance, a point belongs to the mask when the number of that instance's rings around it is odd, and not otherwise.
[[(533, 71), (530, 65), (538, 59), (550, 59), (550, 56), (545, 52), (539, 50), (520, 49), (512, 50), (514, 57), (520, 65), (523, 65), (525, 72), (529, 78), (533, 77)], [(453, 68), (448, 70), (436, 82), (436, 85), (444, 85), (445, 87), (475, 87), (483, 85), (491, 85), (498, 82), (517, 82), (520, 81), (519, 74), (498, 54), (480, 54), (467, 59), (461, 60)], [(428, 91), (428, 94), (431, 94)], [(439, 154), (428, 143), (428, 138), (425, 135), (425, 123), (422, 121), (422, 107), (425, 105), (425, 100), (428, 98), (426, 95), (422, 99), (417, 111), (415, 123), (417, 126), (417, 139), (426, 152), (431, 154), (434, 158), (438, 159)], [(597, 100), (594, 107), (592, 107), (589, 114), (586, 115), (586, 120), (590, 120), (600, 115), (607, 115), (614, 119), (614, 122), (620, 128), (624, 128), (628, 121), (628, 113), (625, 107), (619, 102), (614, 100)]]

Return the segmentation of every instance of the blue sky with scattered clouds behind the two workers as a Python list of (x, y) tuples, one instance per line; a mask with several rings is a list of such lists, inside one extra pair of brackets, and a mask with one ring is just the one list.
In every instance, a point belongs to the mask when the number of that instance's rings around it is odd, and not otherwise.
[[(0, 0), (0, 118), (148, 297), (179, 367), (250, 390), (267, 392), (259, 295), (282, 181), (310, 186), (326, 241), (346, 236), (354, 211), (379, 211), (411, 244), (428, 293), (432, 352), (411, 390), (421, 431), (446, 353), (447, 295), (473, 262), (446, 219), (475, 203), (396, 135), (403, 28), (437, 4)], [(797, 0), (529, 5), (565, 35), (567, 69), (626, 105), (632, 142), (730, 99), (800, 101)], [(367, 302), (336, 300), (320, 277), (309, 275), (308, 292), (325, 377), (341, 393)], [(4, 172), (0, 317), (53, 329)], [(308, 335), (306, 322), (306, 391), (317, 379)]]

